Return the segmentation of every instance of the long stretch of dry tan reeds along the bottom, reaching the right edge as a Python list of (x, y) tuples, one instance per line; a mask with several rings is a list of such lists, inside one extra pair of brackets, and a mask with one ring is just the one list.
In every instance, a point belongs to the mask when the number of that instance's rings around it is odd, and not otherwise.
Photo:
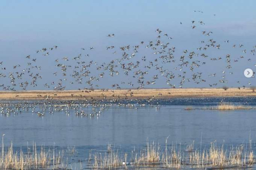
[(209, 149), (195, 149), (194, 141), (186, 147), (172, 144), (162, 147), (160, 144), (147, 143), (145, 147), (129, 153), (119, 153), (118, 150), (108, 153), (94, 154), (93, 169), (129, 169), (140, 167), (163, 167), (170, 169), (210, 168), (222, 169), (232, 167), (252, 167), (255, 163), (252, 151), (252, 141), (239, 146), (219, 146), (212, 142)]

